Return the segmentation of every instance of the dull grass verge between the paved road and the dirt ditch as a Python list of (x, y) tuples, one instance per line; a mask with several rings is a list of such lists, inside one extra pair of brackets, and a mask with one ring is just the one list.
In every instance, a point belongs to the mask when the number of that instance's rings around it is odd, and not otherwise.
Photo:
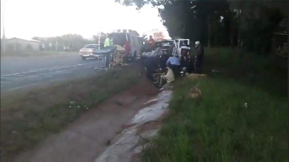
[(58, 132), (81, 112), (139, 80), (137, 65), (23, 94), (1, 95), (1, 159), (9, 161)]

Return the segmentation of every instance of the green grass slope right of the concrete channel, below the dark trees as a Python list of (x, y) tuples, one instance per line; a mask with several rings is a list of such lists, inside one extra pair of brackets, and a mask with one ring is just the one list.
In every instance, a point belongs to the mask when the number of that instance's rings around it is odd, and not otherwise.
[[(170, 113), (144, 161), (287, 161), (287, 68), (238, 52), (206, 50), (209, 79), (174, 83)], [(195, 85), (201, 99), (187, 97)]]

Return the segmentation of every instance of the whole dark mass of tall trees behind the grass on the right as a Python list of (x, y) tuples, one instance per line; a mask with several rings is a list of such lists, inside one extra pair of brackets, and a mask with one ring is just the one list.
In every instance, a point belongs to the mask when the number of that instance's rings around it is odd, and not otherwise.
[(231, 46), (265, 53), (273, 31), (288, 17), (289, 1), (116, 0), (123, 5), (159, 8), (171, 37), (200, 40), (207, 47)]

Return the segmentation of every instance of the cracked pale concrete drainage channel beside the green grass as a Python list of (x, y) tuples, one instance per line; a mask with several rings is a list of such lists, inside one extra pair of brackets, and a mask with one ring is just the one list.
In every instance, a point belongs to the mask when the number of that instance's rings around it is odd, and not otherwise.
[(163, 90), (154, 99), (146, 102), (148, 106), (134, 115), (127, 123), (127, 128), (104, 148), (95, 162), (136, 161), (143, 147), (147, 147), (150, 139), (158, 134), (160, 125), (156, 123), (168, 111), (171, 95), (171, 90)]

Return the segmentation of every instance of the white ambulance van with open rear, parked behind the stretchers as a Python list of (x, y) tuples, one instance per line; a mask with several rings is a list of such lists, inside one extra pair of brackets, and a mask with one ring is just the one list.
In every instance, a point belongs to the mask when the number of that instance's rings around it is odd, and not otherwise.
[(128, 59), (136, 59), (141, 54), (143, 46), (142, 40), (136, 31), (117, 29), (109, 34), (112, 37), (112, 45), (124, 47), (126, 41), (130, 44), (130, 53), (126, 56)]

